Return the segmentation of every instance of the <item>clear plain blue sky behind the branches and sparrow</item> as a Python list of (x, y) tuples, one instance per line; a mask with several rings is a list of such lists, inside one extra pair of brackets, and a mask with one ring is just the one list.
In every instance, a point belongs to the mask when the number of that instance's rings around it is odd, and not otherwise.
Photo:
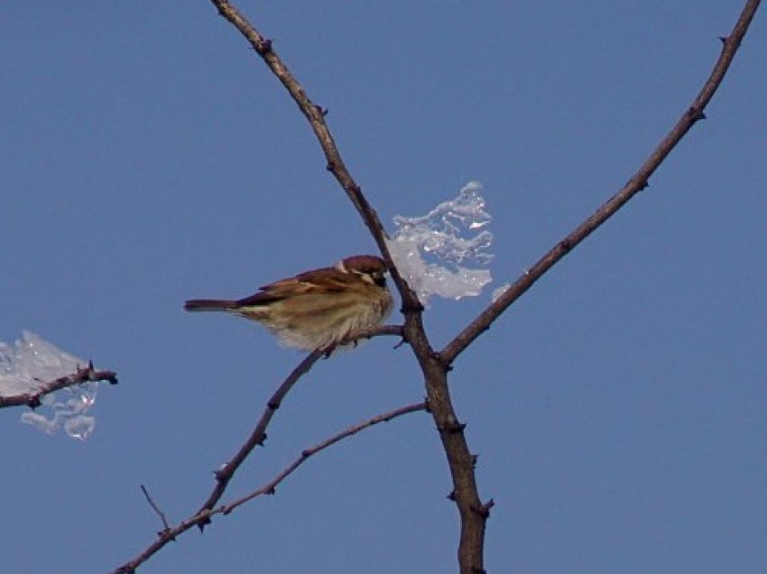
[[(742, 7), (252, 4), (384, 221), (484, 183), (494, 286), (624, 184)], [(31, 329), (121, 380), (84, 443), (0, 412), (0, 551), (7, 572), (106, 572), (160, 528), (139, 485), (172, 522), (193, 512), (301, 358), (182, 302), (374, 244), (296, 106), (212, 5), (5, 3), (0, 24), (0, 340)], [(758, 14), (707, 121), (651, 187), (457, 361), (457, 412), (496, 502), (489, 571), (767, 568), (765, 50)], [(435, 301), (435, 346), (488, 297)], [(418, 402), (414, 360), (392, 347), (321, 362), (231, 495)], [(347, 440), (140, 571), (455, 571), (432, 426), (414, 414)]]

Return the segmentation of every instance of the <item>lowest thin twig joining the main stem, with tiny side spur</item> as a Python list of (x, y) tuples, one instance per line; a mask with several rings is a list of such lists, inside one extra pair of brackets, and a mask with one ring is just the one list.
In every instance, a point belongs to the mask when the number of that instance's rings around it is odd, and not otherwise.
[[(179, 534), (182, 534), (183, 532), (187, 532), (189, 529), (194, 528), (195, 526), (201, 527), (206, 523), (210, 523), (210, 517), (213, 516), (214, 514), (229, 514), (232, 511), (234, 511), (238, 506), (244, 505), (246, 502), (253, 500), (259, 495), (273, 493), (274, 488), (277, 485), (279, 485), (286, 477), (289, 477), (297, 468), (300, 467), (301, 464), (303, 464), (303, 462), (307, 458), (310, 458), (312, 455), (317, 454), (320, 450), (328, 449), (328, 447), (331, 447), (332, 445), (336, 444), (338, 441), (347, 439), (348, 437), (355, 435), (360, 430), (365, 430), (380, 422), (388, 422), (393, 419), (396, 419), (397, 417), (401, 417), (405, 414), (408, 414), (410, 412), (425, 411), (426, 409), (427, 409), (426, 403), (415, 403), (415, 404), (409, 404), (409, 405), (400, 407), (399, 409), (394, 409), (393, 411), (384, 412), (382, 414), (374, 416), (372, 419), (368, 419), (367, 421), (363, 421), (356, 425), (353, 425), (349, 427), (347, 430), (342, 430), (341, 432), (338, 432), (337, 434), (333, 435), (327, 440), (323, 440), (322, 442), (315, 445), (314, 447), (311, 447), (310, 449), (302, 450), (299, 458), (294, 460), (291, 463), (291, 465), (284, 468), (276, 477), (274, 477), (272, 480), (266, 483), (266, 485), (254, 490), (254, 492), (251, 493), (250, 495), (246, 495), (243, 498), (237, 499), (236, 501), (228, 505), (222, 505), (217, 507), (216, 509), (201, 510), (199, 511), (198, 514), (195, 514), (194, 516), (190, 516), (189, 518), (177, 524), (176, 526), (173, 526), (172, 528), (166, 526), (165, 530), (163, 530), (162, 532), (159, 532), (158, 538), (156, 541), (152, 542), (152, 544), (150, 544), (147, 548), (145, 548), (133, 560), (125, 562), (125, 564), (112, 570), (109, 574), (134, 574), (135, 570), (139, 566), (141, 566), (146, 560), (149, 560), (150, 558), (152, 558), (152, 555), (154, 555), (157, 551), (160, 551), (162, 547), (165, 546), (168, 542), (175, 541), (176, 537)], [(155, 511), (159, 513), (159, 510), (154, 505), (149, 495), (146, 494), (146, 491), (144, 490), (143, 486), (142, 486), (142, 490), (144, 492), (144, 495), (146, 495), (147, 500), (149, 500), (150, 504), (152, 505), (152, 508), (154, 508)], [(165, 523), (164, 518), (163, 518), (163, 523)]]

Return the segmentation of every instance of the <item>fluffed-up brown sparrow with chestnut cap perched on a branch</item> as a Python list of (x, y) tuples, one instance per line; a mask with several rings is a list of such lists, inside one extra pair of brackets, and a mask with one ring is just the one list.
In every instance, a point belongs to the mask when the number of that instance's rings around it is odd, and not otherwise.
[(258, 321), (287, 347), (321, 349), (329, 355), (392, 312), (385, 273), (380, 257), (354, 255), (333, 267), (264, 285), (245, 299), (192, 299), (184, 309), (234, 313)]

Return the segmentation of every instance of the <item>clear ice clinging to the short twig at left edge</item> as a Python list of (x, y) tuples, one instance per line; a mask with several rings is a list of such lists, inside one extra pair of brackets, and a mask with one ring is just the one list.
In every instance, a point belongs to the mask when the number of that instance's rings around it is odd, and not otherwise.
[[(42, 384), (71, 375), (85, 365), (88, 361), (24, 331), (23, 338), (14, 346), (0, 342), (0, 395), (36, 393)], [(22, 421), (49, 434), (64, 429), (73, 439), (85, 440), (96, 425), (95, 419), (87, 414), (96, 403), (96, 390), (96, 382), (87, 382), (46, 394), (40, 407), (22, 414)]]

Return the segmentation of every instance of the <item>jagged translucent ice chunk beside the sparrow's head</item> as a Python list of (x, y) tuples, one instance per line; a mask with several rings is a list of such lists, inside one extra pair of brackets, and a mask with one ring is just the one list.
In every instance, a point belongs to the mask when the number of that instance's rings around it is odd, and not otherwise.
[(423, 305), (432, 295), (474, 297), (493, 280), (488, 252), (493, 234), (482, 184), (469, 181), (457, 198), (420, 217), (396, 216), (397, 232), (387, 243), (394, 263)]

